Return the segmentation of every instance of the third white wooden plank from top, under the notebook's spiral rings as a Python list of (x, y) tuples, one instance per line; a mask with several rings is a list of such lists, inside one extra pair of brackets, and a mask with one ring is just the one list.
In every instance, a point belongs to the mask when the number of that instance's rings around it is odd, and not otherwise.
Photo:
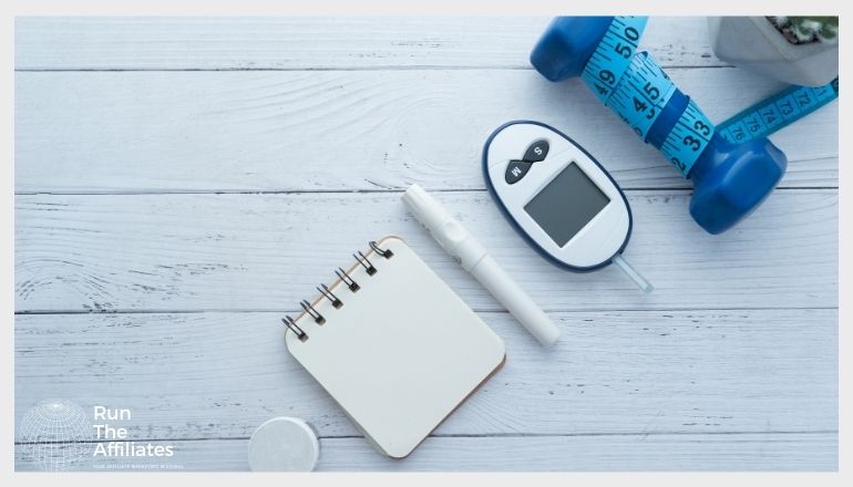
[[(780, 190), (706, 234), (686, 191), (631, 191), (617, 268), (552, 266), (484, 191), (436, 197), (546, 310), (837, 307), (837, 190)], [(399, 193), (16, 197), (16, 310), (294, 310), (383, 235), (403, 237), (477, 310), (500, 305), (409, 215)], [(761, 244), (757, 244), (761, 242)]]

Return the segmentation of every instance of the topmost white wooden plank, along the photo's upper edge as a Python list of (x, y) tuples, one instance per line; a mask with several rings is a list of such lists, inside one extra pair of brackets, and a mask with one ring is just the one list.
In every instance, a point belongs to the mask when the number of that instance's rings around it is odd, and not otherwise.
[[(530, 69), (531, 17), (18, 18), (18, 70)], [(723, 65), (703, 17), (652, 18), (665, 65)]]

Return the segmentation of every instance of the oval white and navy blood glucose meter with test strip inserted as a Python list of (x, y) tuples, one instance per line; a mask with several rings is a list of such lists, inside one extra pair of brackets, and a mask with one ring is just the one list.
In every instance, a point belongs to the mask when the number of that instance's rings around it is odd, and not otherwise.
[(506, 219), (551, 262), (577, 272), (615, 262), (651, 290), (621, 257), (633, 225), (628, 200), (568, 136), (538, 122), (508, 122), (485, 143), (483, 175)]

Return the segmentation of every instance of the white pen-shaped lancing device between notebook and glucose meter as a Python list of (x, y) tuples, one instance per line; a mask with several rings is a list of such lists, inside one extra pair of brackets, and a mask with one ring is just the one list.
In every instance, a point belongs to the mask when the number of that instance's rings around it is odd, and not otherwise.
[(439, 245), (543, 346), (557, 341), (557, 325), (438, 200), (417, 184), (405, 190), (402, 199)]

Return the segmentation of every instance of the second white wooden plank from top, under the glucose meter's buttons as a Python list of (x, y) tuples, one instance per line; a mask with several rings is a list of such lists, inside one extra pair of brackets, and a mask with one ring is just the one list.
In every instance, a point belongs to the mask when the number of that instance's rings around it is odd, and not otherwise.
[[(736, 69), (670, 74), (715, 121), (778, 89)], [(482, 189), (482, 145), (513, 118), (565, 131), (625, 188), (691, 187), (577, 80), (445, 70), (18, 73), (16, 189)], [(773, 135), (783, 187), (837, 186), (837, 127), (833, 103)]]

